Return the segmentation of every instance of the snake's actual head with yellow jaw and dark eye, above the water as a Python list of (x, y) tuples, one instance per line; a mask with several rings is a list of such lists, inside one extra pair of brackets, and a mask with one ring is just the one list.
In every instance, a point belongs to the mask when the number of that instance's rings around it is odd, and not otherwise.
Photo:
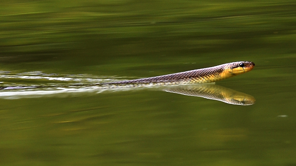
[(239, 61), (229, 63), (225, 68), (232, 76), (239, 75), (251, 71), (255, 67), (253, 62)]

